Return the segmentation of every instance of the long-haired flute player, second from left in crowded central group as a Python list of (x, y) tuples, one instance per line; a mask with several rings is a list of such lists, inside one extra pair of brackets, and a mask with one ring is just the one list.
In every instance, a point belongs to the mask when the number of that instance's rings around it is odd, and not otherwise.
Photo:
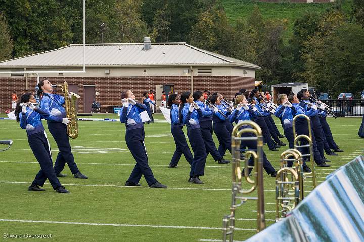
[(199, 122), (199, 117), (202, 117), (203, 114), (200, 107), (193, 101), (190, 92), (182, 93), (181, 102), (182, 104), (179, 106), (179, 120), (186, 124), (187, 136), (194, 152), (188, 182), (203, 184), (200, 176), (203, 176), (205, 173), (207, 156)]

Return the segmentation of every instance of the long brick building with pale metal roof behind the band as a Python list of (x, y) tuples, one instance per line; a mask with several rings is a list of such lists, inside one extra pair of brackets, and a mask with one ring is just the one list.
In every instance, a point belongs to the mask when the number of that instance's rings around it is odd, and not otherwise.
[[(141, 100), (142, 93), (154, 90), (157, 98), (165, 90), (196, 91), (208, 89), (232, 98), (240, 88), (255, 86), (255, 70), (248, 62), (198, 49), (186, 43), (87, 44), (86, 73), (39, 73), (52, 84), (68, 82), (69, 91), (80, 95), (78, 112), (89, 113), (92, 102), (101, 103), (101, 112), (121, 105), (125, 89)], [(0, 71), (80, 71), (83, 45), (71, 44), (60, 49), (0, 62)], [(26, 89), (34, 91), (34, 74), (0, 74), (0, 108), (11, 108), (11, 92), (19, 98)], [(60, 94), (60, 88), (56, 88)], [(160, 102), (160, 101), (159, 101)]]

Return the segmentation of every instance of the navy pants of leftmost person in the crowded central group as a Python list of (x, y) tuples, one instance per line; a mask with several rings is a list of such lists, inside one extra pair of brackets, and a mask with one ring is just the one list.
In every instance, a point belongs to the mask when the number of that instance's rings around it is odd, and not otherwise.
[(174, 138), (174, 143), (176, 144), (176, 150), (172, 156), (172, 160), (170, 165), (176, 166), (179, 162), (180, 157), (184, 154), (186, 161), (191, 165), (193, 161), (193, 156), (190, 151), (190, 148), (187, 144), (185, 134), (182, 130), (183, 126), (180, 127), (171, 127), (171, 133)]

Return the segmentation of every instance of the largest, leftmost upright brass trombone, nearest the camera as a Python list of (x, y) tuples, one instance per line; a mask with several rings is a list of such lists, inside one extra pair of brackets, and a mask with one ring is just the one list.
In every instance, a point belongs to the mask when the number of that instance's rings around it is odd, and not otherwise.
[[(243, 128), (243, 126), (251, 126), (252, 128)], [(253, 133), (255, 137), (242, 137), (245, 133)], [(243, 159), (240, 155), (240, 142), (242, 140), (257, 141), (257, 151), (246, 151)], [(225, 215), (223, 218), (223, 239), (222, 241), (233, 241), (234, 228), (235, 228), (235, 210), (248, 200), (256, 200), (258, 206), (257, 214), (257, 232), (265, 228), (265, 215), (264, 215), (264, 184), (263, 184), (263, 136), (260, 127), (252, 121), (243, 121), (234, 126), (232, 132), (232, 201), (230, 207), (230, 214)], [(254, 160), (254, 180), (248, 176), (249, 156)], [(243, 190), (242, 187), (242, 171), (240, 169), (240, 162), (244, 163), (244, 179), (251, 185), (250, 189)], [(248, 197), (247, 195), (257, 190), (257, 197)], [(237, 202), (240, 201), (240, 202)]]

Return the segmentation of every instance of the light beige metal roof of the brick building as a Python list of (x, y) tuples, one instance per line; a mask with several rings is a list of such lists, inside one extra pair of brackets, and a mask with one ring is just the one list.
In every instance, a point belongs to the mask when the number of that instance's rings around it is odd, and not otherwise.
[[(86, 44), (86, 66), (179, 66), (228, 65), (252, 69), (260, 67), (245, 61), (198, 49), (186, 43), (152, 43), (150, 50), (143, 43)], [(71, 44), (0, 62), (9, 67), (79, 67), (83, 66), (83, 44)]]

